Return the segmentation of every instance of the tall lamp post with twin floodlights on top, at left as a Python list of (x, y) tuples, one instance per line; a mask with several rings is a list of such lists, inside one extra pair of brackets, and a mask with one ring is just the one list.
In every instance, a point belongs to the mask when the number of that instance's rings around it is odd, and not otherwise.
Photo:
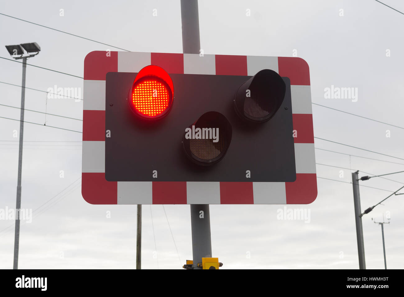
[[(21, 171), (23, 160), (23, 132), (24, 132), (24, 106), (25, 106), (25, 72), (27, 68), (27, 58), (38, 55), (41, 48), (36, 42), (23, 43), (17, 45), (6, 45), (8, 53), (14, 59), (23, 59), (23, 78), (21, 84), (21, 113), (20, 113), (20, 136), (18, 147), (18, 179), (17, 179), (17, 203), (15, 206), (15, 235), (14, 235), (14, 263), (13, 269), (18, 269), (18, 248), (20, 240), (20, 209), (21, 209)], [(27, 54), (24, 54), (24, 50)]]

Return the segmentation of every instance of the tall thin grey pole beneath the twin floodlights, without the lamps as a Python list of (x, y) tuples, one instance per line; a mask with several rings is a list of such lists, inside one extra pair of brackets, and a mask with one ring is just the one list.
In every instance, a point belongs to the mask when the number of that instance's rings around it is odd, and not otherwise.
[(24, 134), (24, 107), (25, 107), (25, 73), (27, 58), (23, 58), (23, 79), (21, 83), (21, 110), (20, 110), (20, 141), (18, 146), (18, 179), (17, 179), (17, 203), (15, 206), (15, 234), (14, 234), (14, 263), (13, 269), (18, 269), (18, 248), (20, 242), (20, 209), (21, 209), (21, 172), (23, 162), (23, 134)]

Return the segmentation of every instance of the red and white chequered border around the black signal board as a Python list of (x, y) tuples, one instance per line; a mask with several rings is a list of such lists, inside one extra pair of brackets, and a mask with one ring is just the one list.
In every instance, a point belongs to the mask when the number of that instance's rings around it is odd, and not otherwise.
[[(271, 69), (290, 79), (294, 182), (105, 180), (105, 75), (158, 65), (168, 74), (253, 76)], [(93, 51), (84, 59), (82, 196), (91, 204), (309, 204), (317, 197), (309, 66), (296, 57)], [(292, 134), (292, 131), (290, 131)]]

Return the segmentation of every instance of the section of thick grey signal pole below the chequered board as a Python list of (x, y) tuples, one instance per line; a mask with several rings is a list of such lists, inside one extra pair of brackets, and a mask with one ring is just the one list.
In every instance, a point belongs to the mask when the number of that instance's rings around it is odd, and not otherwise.
[(202, 263), (202, 257), (212, 257), (209, 204), (191, 204), (192, 267)]

